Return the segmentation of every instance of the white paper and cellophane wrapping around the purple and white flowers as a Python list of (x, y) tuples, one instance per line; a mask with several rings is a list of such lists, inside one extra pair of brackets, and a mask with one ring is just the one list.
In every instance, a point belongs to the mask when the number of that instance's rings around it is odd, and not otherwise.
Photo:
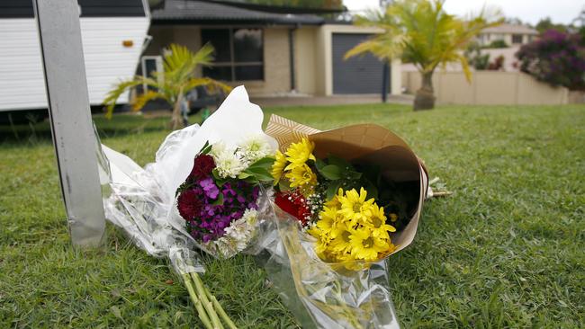
[[(204, 271), (195, 250), (220, 255), (189, 235), (176, 209), (175, 191), (191, 172), (193, 158), (206, 142), (232, 147), (262, 135), (276, 149), (274, 138), (262, 130), (263, 120), (260, 108), (249, 102), (240, 86), (202, 126), (194, 124), (169, 134), (158, 148), (155, 162), (144, 168), (98, 140), (105, 217), (121, 227), (140, 249), (155, 257), (168, 257), (179, 274)], [(266, 195), (260, 199), (266, 204)]]

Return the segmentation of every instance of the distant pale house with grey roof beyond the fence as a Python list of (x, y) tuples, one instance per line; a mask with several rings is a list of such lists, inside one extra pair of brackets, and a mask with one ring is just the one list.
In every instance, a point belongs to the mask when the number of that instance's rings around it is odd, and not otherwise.
[(521, 46), (534, 40), (536, 35), (538, 31), (527, 25), (501, 24), (484, 29), (477, 36), (477, 40), (482, 46), (488, 46), (496, 40), (502, 40), (508, 46)]

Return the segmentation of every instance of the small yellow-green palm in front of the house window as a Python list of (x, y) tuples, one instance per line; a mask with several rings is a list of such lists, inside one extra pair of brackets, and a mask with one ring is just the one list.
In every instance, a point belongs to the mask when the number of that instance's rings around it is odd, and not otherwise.
[(140, 94), (132, 103), (132, 110), (139, 111), (147, 102), (162, 99), (173, 105), (171, 126), (178, 129), (183, 126), (181, 117), (181, 102), (185, 93), (191, 89), (203, 85), (213, 90), (229, 92), (231, 87), (207, 77), (195, 77), (195, 70), (199, 66), (208, 66), (213, 60), (213, 47), (205, 45), (197, 52), (193, 52), (184, 46), (171, 44), (169, 51), (164, 56), (163, 73), (152, 73), (152, 77), (135, 76), (132, 80), (121, 81), (105, 97), (103, 104), (106, 106), (107, 118), (112, 118), (112, 111), (116, 101), (122, 93), (127, 92), (137, 85), (148, 85), (148, 89)]

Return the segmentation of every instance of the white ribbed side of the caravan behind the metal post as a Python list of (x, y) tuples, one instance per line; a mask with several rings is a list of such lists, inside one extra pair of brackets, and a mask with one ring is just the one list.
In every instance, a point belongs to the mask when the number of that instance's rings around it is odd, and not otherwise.
[[(134, 76), (150, 21), (145, 1), (78, 0), (90, 104)], [(32, 1), (0, 1), (0, 111), (46, 108)]]

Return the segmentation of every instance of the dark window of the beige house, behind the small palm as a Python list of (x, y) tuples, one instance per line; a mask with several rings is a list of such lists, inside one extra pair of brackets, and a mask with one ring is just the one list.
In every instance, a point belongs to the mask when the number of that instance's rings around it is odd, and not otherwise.
[(228, 82), (264, 80), (262, 29), (202, 29), (201, 39), (215, 49), (215, 60), (203, 67), (203, 76)]

